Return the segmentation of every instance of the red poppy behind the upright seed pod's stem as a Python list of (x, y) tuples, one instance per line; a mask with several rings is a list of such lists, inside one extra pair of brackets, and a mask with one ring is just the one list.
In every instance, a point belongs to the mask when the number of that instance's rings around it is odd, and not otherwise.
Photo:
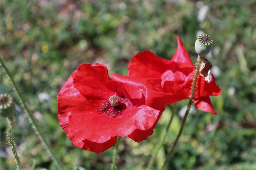
[[(177, 37), (177, 41), (178, 47), (171, 60), (156, 57), (150, 51), (143, 51), (135, 55), (128, 66), (129, 76), (161, 77), (162, 86), (173, 93), (171, 103), (189, 99), (195, 71), (195, 66), (179, 37)], [(209, 96), (216, 96), (220, 93), (221, 89), (216, 85), (213, 75), (210, 83), (199, 76), (194, 96), (196, 108), (217, 114), (212, 107)]]

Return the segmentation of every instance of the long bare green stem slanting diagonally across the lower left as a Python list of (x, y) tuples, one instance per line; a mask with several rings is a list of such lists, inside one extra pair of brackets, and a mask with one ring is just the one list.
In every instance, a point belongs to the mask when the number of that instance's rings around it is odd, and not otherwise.
[(49, 146), (48, 143), (46, 142), (45, 137), (43, 136), (43, 134), (42, 134), (42, 132), (40, 131), (38, 125), (36, 124), (36, 122), (35, 122), (35, 120), (34, 120), (32, 114), (30, 113), (30, 111), (29, 111), (29, 109), (28, 109), (28, 107), (27, 107), (27, 105), (26, 105), (25, 100), (23, 99), (23, 97), (22, 97), (22, 95), (21, 95), (21, 93), (20, 93), (20, 91), (19, 91), (19, 89), (18, 89), (18, 86), (16, 85), (16, 83), (15, 83), (15, 81), (14, 81), (14, 79), (13, 79), (13, 76), (10, 74), (9, 70), (8, 70), (7, 67), (5, 66), (4, 61), (2, 60), (1, 57), (0, 57), (0, 64), (2, 65), (4, 71), (6, 72), (6, 75), (7, 75), (7, 76), (10, 78), (10, 80), (11, 80), (11, 82), (12, 82), (12, 84), (13, 84), (13, 86), (14, 86), (14, 89), (15, 89), (15, 91), (16, 91), (16, 93), (17, 93), (19, 99), (20, 99), (20, 102), (22, 103), (22, 106), (23, 106), (23, 108), (25, 109), (25, 112), (26, 112), (27, 115), (28, 115), (29, 122), (32, 124), (33, 128), (35, 129), (35, 131), (36, 131), (36, 133), (38, 134), (39, 138), (41, 139), (42, 143), (44, 144), (45, 149), (49, 152), (49, 154), (50, 154), (50, 156), (51, 156), (53, 162), (54, 162), (55, 165), (57, 166), (57, 168), (58, 168), (59, 170), (62, 170), (62, 168), (61, 168), (60, 164), (58, 163), (58, 161), (57, 161), (57, 159), (56, 159), (54, 153), (52, 152), (50, 146)]

